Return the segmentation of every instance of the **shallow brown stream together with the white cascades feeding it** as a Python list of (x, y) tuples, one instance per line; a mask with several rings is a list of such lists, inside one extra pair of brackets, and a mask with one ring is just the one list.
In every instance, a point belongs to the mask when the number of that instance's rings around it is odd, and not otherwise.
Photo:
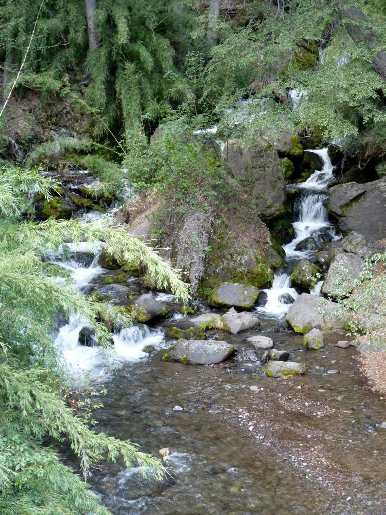
[[(114, 515), (386, 512), (382, 397), (365, 386), (353, 347), (337, 348), (331, 338), (324, 349), (305, 350), (302, 337), (285, 321), (290, 304), (282, 301), (283, 295), (299, 295), (290, 273), (300, 259), (312, 259), (315, 253), (296, 247), (320, 234), (339, 239), (323, 204), (333, 167), (327, 149), (312, 152), (323, 167), (296, 184), (294, 238), (284, 246), (286, 267), (276, 271), (272, 288), (265, 290), (266, 305), (255, 307), (261, 328), (212, 335), (238, 348), (234, 358), (214, 366), (163, 362), (170, 345), (164, 329), (176, 318), (116, 334), (115, 369), (103, 350), (79, 343), (82, 320), (74, 317), (58, 330), (56, 345), (74, 380), (87, 373), (107, 387), (103, 407), (95, 413), (98, 430), (137, 442), (154, 455), (170, 449), (164, 458), (170, 475), (164, 483), (143, 479), (138, 469), (126, 470), (121, 461), (94, 472), (91, 485)], [(55, 261), (71, 270), (81, 291), (106, 271), (97, 262), (100, 248), (91, 257), (84, 250), (66, 262)], [(311, 293), (320, 295), (320, 288), (318, 283)], [(173, 299), (160, 294), (159, 300)], [(246, 340), (256, 334), (290, 351), (292, 361), (306, 365), (306, 374), (267, 377), (258, 357), (248, 352), (252, 347)], [(148, 345), (154, 347), (150, 356), (143, 351)], [(77, 459), (64, 454), (78, 470)]]

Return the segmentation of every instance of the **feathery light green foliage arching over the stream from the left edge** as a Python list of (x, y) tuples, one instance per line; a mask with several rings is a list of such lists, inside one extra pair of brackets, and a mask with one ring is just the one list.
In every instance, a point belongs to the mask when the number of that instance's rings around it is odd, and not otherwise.
[(31, 193), (47, 195), (56, 187), (38, 169), (1, 167), (0, 184), (0, 512), (106, 514), (81, 478), (61, 463), (55, 447), (43, 445), (44, 438), (68, 440), (85, 478), (97, 462), (118, 456), (127, 467), (138, 464), (159, 479), (165, 470), (135, 444), (91, 430), (66, 404), (66, 377), (52, 331), (56, 313), (75, 314), (96, 332), (97, 344), (108, 347), (107, 327), (125, 327), (130, 319), (121, 308), (77, 293), (63, 271), (44, 258), (64, 242), (103, 239), (108, 254), (142, 261), (159, 288), (170, 287), (183, 300), (188, 289), (168, 263), (119, 228), (29, 219)]

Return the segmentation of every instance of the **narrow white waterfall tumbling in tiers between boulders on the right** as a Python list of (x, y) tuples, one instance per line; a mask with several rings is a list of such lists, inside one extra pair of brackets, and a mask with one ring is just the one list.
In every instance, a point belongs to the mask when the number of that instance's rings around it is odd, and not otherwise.
[[(291, 96), (292, 99), (294, 99), (293, 97)], [(328, 213), (324, 207), (324, 201), (327, 198), (327, 184), (334, 177), (332, 174), (334, 166), (329, 159), (327, 148), (307, 150), (307, 152), (313, 152), (320, 156), (323, 166), (321, 170), (315, 170), (305, 182), (297, 184), (301, 189), (301, 195), (295, 200), (293, 208), (294, 238), (283, 246), (287, 260), (300, 260), (314, 254), (314, 250), (309, 248), (308, 242), (304, 242), (307, 238), (312, 237), (317, 240), (322, 234), (325, 234), (333, 241), (338, 239), (334, 227), (328, 221)], [(305, 245), (302, 246), (302, 249), (296, 250), (297, 245), (301, 242), (304, 242)], [(322, 284), (323, 281), (315, 284), (310, 291), (311, 295), (320, 295)], [(272, 288), (264, 291), (267, 293), (266, 305), (258, 307), (257, 310), (275, 318), (283, 318), (289, 309), (290, 304), (283, 302), (283, 300), (288, 300), (283, 297), (284, 295), (288, 294), (293, 299), (298, 296), (296, 290), (291, 287), (290, 274), (283, 269), (276, 271)]]

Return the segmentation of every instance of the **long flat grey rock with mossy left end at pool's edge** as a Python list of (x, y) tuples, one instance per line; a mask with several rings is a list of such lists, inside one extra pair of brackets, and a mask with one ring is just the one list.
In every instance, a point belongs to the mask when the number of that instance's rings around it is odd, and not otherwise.
[(210, 365), (221, 363), (232, 356), (235, 348), (220, 340), (180, 340), (171, 345), (162, 359), (184, 365)]

